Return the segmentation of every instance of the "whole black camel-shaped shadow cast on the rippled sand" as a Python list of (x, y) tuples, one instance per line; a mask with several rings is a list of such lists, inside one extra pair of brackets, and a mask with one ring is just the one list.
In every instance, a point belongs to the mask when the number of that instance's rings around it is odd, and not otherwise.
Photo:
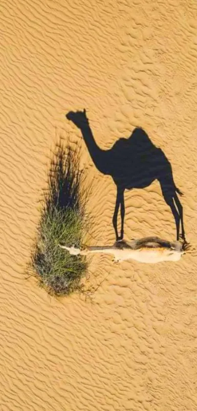
[[(102, 150), (96, 144), (89, 127), (86, 110), (70, 111), (66, 118), (80, 128), (91, 159), (97, 169), (110, 175), (117, 187), (116, 203), (112, 218), (116, 240), (124, 237), (125, 204), (124, 192), (133, 188), (145, 188), (158, 180), (164, 200), (170, 206), (175, 218), (176, 240), (185, 240), (183, 225), (183, 207), (177, 194), (182, 195), (176, 187), (170, 162), (163, 151), (152, 143), (142, 128), (135, 128), (129, 138), (120, 138), (109, 150)], [(121, 232), (118, 235), (117, 218), (120, 208)], [(180, 231), (181, 223), (181, 234)]]

